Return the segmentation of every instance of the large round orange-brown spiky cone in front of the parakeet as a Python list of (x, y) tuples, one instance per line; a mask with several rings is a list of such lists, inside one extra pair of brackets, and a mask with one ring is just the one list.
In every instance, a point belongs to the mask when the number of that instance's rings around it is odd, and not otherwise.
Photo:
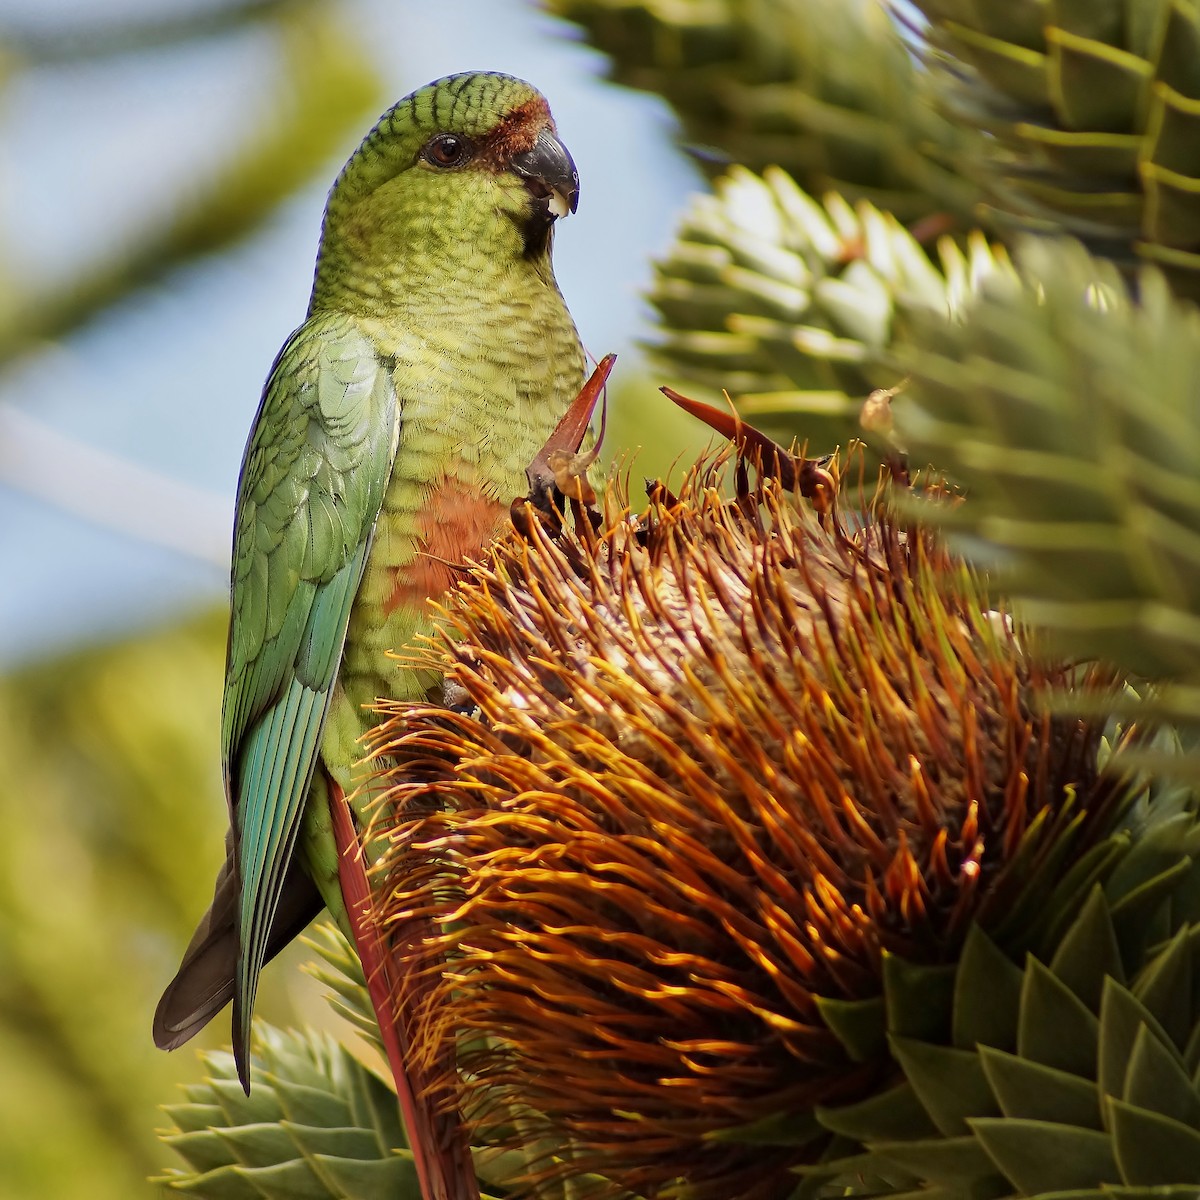
[(880, 505), (731, 504), (697, 469), (601, 508), (522, 522), (449, 601), (434, 656), (476, 712), (391, 713), (379, 918), (439, 979), (419, 1040), (457, 1039), (481, 1139), (641, 1195), (786, 1195), (820, 1146), (714, 1134), (886, 1080), (818, 997), (953, 961), (1085, 845), (1098, 731)]

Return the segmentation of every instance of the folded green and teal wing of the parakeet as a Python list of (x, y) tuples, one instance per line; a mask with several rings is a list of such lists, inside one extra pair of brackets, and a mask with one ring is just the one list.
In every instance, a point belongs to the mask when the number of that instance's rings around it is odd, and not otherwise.
[(398, 430), (389, 364), (350, 318), (322, 316), (280, 352), (246, 448), (221, 722), (239, 1062)]

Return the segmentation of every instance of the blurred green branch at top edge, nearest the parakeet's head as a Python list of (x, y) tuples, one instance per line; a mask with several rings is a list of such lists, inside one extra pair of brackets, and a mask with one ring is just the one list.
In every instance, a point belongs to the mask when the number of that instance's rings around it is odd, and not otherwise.
[(978, 132), (936, 110), (928, 73), (875, 0), (550, 7), (583, 26), (618, 82), (667, 100), (710, 174), (728, 161), (779, 166), (809, 191), (871, 199), (901, 220), (967, 220), (976, 188), (948, 164)]

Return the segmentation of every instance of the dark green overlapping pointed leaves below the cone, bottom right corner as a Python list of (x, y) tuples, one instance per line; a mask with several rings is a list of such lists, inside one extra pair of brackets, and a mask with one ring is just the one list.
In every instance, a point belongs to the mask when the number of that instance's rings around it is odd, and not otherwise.
[[(1178, 814), (1170, 805), (1166, 810), (1158, 818), (1138, 817), (1139, 838), (1122, 839), (1126, 853), (1136, 852), (1140, 838), (1152, 841), (1157, 832), (1174, 828)], [(1176, 845), (1180, 840), (1176, 835)], [(1157, 944), (1153, 930), (1144, 929), (1140, 942), (1128, 947), (1132, 956), (1124, 964), (1115, 958), (1108, 887), (1123, 899), (1130, 880), (1145, 886), (1153, 878), (1147, 868), (1154, 862), (1150, 856), (1132, 870), (1118, 869), (1093, 888), (1051, 948), (1052, 968), (1034, 956), (1016, 967), (974, 931), (954, 986), (955, 1007), (966, 1009), (950, 1020), (959, 1048), (893, 1037), (893, 1057), (906, 1082), (852, 1108), (817, 1110), (827, 1129), (850, 1139), (821, 1164), (820, 1178), (838, 1188), (856, 1178), (886, 1180), (895, 1168), (924, 1189), (955, 1196), (1007, 1196), (1016, 1188), (1021, 1195), (1091, 1200), (1136, 1194), (1123, 1184), (1169, 1194), (1171, 1186), (1194, 1181), (1200, 989), (1190, 970), (1200, 928), (1183, 924)], [(1171, 874), (1169, 859), (1158, 858), (1157, 865)], [(1093, 967), (1100, 964), (1112, 973), (1104, 974), (1097, 995)], [(1121, 982), (1126, 966), (1132, 984)], [(998, 988), (988, 1015), (977, 1020), (970, 1009), (989, 977)], [(1138, 991), (1158, 1007), (1157, 1016)], [(1006, 1008), (1008, 1015), (1001, 1015)], [(976, 1031), (979, 1037), (970, 1039)], [(1009, 1049), (986, 1044), (989, 1031)], [(941, 1142), (931, 1140), (935, 1126)], [(816, 1169), (809, 1177), (818, 1178)], [(899, 1177), (869, 1194), (894, 1196), (910, 1188), (912, 1195), (925, 1194)], [(822, 1200), (835, 1194), (844, 1193), (811, 1192)]]

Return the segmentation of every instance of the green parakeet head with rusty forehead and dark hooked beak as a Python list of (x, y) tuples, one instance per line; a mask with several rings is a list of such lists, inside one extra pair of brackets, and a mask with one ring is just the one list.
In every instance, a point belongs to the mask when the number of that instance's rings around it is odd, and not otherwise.
[(461, 271), (464, 250), (545, 259), (578, 192), (541, 92), (490, 72), (438, 79), (388, 109), (334, 184), (313, 302), (338, 282)]

